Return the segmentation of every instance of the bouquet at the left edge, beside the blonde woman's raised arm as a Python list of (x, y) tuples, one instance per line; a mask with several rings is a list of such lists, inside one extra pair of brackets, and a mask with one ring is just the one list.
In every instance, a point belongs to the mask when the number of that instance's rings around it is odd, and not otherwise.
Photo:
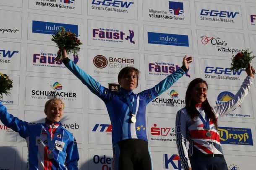
[(13, 80), (9, 79), (6, 74), (0, 72), (0, 99), (5, 95), (9, 94), (10, 88), (13, 87)]

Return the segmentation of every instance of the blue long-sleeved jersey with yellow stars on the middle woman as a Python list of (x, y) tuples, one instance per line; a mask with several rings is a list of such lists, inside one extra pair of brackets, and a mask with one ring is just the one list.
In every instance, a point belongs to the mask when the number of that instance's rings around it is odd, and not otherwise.
[[(186, 68), (183, 66), (153, 88), (135, 94), (133, 91), (127, 91), (123, 88), (120, 91), (111, 91), (100, 85), (99, 82), (81, 70), (71, 60), (65, 59), (63, 63), (92, 93), (104, 101), (112, 124), (113, 145), (125, 139), (143, 139), (148, 142), (146, 136), (146, 105), (170, 88), (186, 71)], [(132, 107), (134, 103), (136, 104), (136, 123), (131, 122), (132, 115), (126, 96), (130, 99)]]

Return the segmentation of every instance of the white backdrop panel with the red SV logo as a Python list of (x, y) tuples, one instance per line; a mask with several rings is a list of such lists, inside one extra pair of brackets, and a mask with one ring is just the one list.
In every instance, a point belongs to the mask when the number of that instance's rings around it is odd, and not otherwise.
[(175, 118), (148, 117), (148, 129), (150, 147), (176, 148)]

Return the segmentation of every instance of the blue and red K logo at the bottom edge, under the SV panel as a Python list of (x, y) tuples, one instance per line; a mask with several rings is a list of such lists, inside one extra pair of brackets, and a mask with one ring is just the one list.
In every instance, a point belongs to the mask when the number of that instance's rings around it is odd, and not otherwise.
[(163, 154), (163, 159), (164, 159), (163, 162), (164, 162), (165, 169), (169, 170), (169, 165), (170, 165), (170, 169), (172, 169), (172, 168), (174, 168), (175, 170), (183, 169), (178, 155), (172, 155), (169, 158), (168, 154)]

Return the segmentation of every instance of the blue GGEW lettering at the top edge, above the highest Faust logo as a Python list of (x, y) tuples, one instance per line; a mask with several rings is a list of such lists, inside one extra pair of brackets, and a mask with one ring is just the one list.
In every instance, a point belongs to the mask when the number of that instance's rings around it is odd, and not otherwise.
[(93, 0), (91, 2), (93, 5), (103, 5), (112, 7), (128, 8), (133, 2), (120, 1), (120, 0)]

